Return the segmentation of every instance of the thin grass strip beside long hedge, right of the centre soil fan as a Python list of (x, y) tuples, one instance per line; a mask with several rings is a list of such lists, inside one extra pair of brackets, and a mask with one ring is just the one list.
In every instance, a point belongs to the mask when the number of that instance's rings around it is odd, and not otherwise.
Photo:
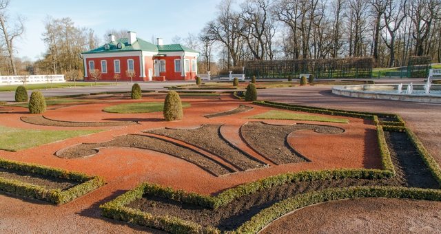
[(345, 118), (328, 118), (322, 116), (313, 116), (310, 114), (298, 114), (287, 111), (267, 111), (263, 114), (256, 114), (255, 116), (249, 116), (252, 119), (265, 119), (265, 120), (306, 120), (306, 121), (319, 121), (319, 122), (331, 122), (331, 123), (349, 123), (349, 120)]

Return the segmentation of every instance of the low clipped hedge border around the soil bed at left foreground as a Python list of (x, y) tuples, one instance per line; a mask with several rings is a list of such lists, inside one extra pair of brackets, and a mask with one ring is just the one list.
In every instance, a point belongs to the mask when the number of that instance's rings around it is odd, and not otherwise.
[(21, 182), (19, 180), (10, 180), (0, 178), (0, 190), (28, 198), (36, 198), (54, 204), (65, 204), (82, 195), (98, 189), (105, 184), (103, 178), (98, 176), (90, 177), (84, 173), (66, 171), (64, 169), (56, 169), (37, 164), (28, 164), (24, 162), (15, 162), (0, 158), (0, 167), (11, 169), (14, 171), (25, 171), (28, 173), (36, 173), (53, 178), (64, 178), (81, 182), (70, 189), (61, 191), (61, 189), (46, 189), (35, 184)]

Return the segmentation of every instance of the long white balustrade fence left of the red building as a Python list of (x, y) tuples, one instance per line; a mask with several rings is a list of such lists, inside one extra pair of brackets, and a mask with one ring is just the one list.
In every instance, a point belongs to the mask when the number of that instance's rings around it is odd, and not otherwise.
[(63, 83), (64, 75), (0, 76), (0, 85)]

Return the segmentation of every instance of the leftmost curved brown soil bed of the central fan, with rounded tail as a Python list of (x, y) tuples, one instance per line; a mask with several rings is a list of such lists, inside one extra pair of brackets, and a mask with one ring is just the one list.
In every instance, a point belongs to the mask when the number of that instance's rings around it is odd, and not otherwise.
[(98, 149), (103, 147), (133, 147), (149, 149), (187, 160), (214, 175), (224, 175), (232, 172), (222, 164), (207, 158), (203, 154), (193, 151), (192, 149), (175, 145), (172, 142), (167, 142), (158, 138), (132, 134), (119, 136), (107, 142), (81, 144), (67, 149), (61, 149), (60, 151), (57, 151), (56, 155), (60, 158), (83, 158), (98, 153)]

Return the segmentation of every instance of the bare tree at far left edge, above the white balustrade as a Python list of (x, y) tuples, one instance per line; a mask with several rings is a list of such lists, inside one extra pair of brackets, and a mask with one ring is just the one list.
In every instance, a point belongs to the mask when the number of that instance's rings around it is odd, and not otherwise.
[(10, 0), (0, 0), (0, 30), (3, 32), (3, 39), (6, 43), (6, 48), (8, 50), (8, 58), (10, 66), (12, 68), (12, 73), (17, 76), (17, 68), (14, 63), (14, 39), (21, 36), (25, 31), (23, 25), (24, 19), (22, 17), (17, 17), (14, 25), (11, 27), (8, 25), (7, 8), (9, 6)]

